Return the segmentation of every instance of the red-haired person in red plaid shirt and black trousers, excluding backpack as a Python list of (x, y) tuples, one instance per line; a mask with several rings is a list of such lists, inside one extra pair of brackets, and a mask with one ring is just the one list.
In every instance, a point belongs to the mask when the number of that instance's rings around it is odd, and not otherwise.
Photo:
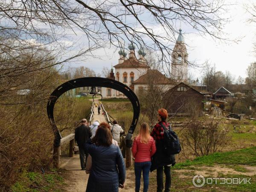
[(168, 117), (168, 113), (166, 109), (163, 109), (163, 108), (159, 109), (158, 115), (157, 115), (157, 119), (159, 122), (154, 126), (151, 132), (151, 136), (156, 141), (157, 151), (152, 158), (152, 165), (151, 165), (150, 171), (152, 172), (154, 169), (157, 169), (157, 192), (163, 191), (163, 167), (164, 167), (164, 173), (166, 176), (164, 192), (170, 192), (171, 166), (175, 165), (175, 156), (174, 155), (167, 156), (163, 151), (164, 129), (162, 128), (160, 123), (166, 126), (167, 129), (169, 129), (169, 123), (166, 122), (167, 117)]

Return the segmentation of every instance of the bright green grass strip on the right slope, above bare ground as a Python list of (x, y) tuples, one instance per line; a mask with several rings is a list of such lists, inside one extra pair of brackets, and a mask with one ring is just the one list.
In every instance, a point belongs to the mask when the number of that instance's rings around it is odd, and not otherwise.
[(223, 153), (214, 153), (203, 157), (197, 157), (194, 160), (187, 160), (183, 163), (177, 163), (174, 169), (184, 169), (187, 166), (214, 164), (229, 164), (229, 165), (256, 165), (256, 147), (245, 148), (237, 151), (228, 151)]

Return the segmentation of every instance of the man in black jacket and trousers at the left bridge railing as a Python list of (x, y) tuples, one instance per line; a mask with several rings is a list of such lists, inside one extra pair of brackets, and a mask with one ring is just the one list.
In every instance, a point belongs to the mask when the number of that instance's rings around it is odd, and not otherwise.
[[(85, 165), (88, 158), (88, 152), (84, 151), (84, 143), (86, 143), (92, 136), (90, 128), (87, 126), (87, 120), (82, 119), (81, 125), (75, 129), (75, 140), (79, 148), (79, 157), (81, 163), (81, 169), (85, 170)], [(85, 155), (85, 161), (84, 161)]]

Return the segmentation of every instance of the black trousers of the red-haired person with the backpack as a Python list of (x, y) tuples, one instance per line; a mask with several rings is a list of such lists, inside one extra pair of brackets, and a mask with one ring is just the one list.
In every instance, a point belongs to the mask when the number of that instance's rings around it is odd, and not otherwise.
[[(170, 192), (171, 188), (171, 167), (164, 166), (164, 174), (166, 175), (165, 190)], [(157, 192), (163, 192), (163, 167), (157, 168)]]

